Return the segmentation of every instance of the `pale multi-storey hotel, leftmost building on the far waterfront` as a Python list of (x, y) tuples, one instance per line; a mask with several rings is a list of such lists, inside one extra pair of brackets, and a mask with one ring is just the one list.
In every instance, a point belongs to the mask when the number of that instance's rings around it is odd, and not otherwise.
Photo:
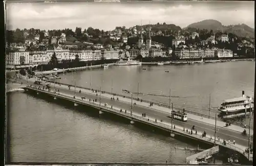
[(29, 51), (12, 49), (6, 51), (6, 65), (29, 64)]

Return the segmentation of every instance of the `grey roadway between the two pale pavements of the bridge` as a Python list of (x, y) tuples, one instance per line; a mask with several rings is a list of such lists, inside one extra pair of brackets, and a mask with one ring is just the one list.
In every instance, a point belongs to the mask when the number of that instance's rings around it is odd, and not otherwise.
[[(26, 80), (22, 80), (23, 84), (27, 84)], [(30, 85), (34, 85), (32, 80), (28, 80)], [(42, 82), (42, 85), (40, 85), (40, 87), (42, 88), (43, 86), (45, 86), (46, 84), (44, 82)], [(34, 85), (34, 86), (39, 86), (39, 85)], [(51, 90), (53, 91), (54, 85), (51, 84)], [(56, 89), (59, 89), (59, 92), (61, 93), (65, 93), (68, 95), (73, 95), (74, 96), (74, 91), (71, 91), (65, 87), (56, 87)], [(99, 101), (99, 94), (98, 96), (94, 95), (94, 94), (89, 94), (89, 93), (78, 93), (79, 89), (77, 88), (76, 90), (76, 97), (86, 97), (87, 99), (91, 98), (91, 99), (97, 99), (97, 101)], [(131, 111), (131, 103), (128, 102), (122, 102), (122, 101), (118, 101), (118, 100), (111, 100), (110, 98), (105, 98), (101, 96), (101, 102), (102, 103), (108, 103), (109, 105), (113, 105), (115, 107), (120, 107), (123, 110), (127, 110), (127, 113), (130, 113)], [(142, 115), (142, 113), (146, 114), (146, 117), (154, 117), (156, 118), (158, 121), (162, 120), (163, 122), (169, 122), (171, 123), (171, 119), (168, 118), (167, 116), (170, 116), (170, 114), (165, 113), (165, 112), (160, 112), (159, 110), (156, 109), (151, 109), (148, 107), (144, 107), (144, 106), (140, 106), (140, 105), (135, 105), (133, 104), (133, 112), (137, 113), (139, 115)], [(199, 121), (195, 121), (192, 119), (189, 119), (187, 122), (182, 122), (182, 121), (178, 121), (178, 120), (173, 120), (173, 125), (176, 126), (181, 126), (181, 127), (185, 127), (185, 128), (191, 128), (191, 126), (195, 125), (196, 129), (198, 131), (206, 131), (207, 134), (209, 135), (213, 135), (214, 137), (214, 133), (215, 133), (215, 126), (214, 125), (209, 125), (203, 122), (199, 122)], [(232, 143), (233, 140), (236, 141), (237, 144), (248, 147), (248, 136), (246, 135), (242, 135), (239, 132), (236, 131), (232, 131), (229, 130), (228, 128), (222, 128), (222, 127), (218, 127), (217, 126), (217, 132), (216, 132), (216, 137), (220, 136), (221, 139), (225, 139), (226, 141), (228, 139), (230, 139), (230, 142)], [(251, 143), (252, 143), (252, 139), (251, 139)]]

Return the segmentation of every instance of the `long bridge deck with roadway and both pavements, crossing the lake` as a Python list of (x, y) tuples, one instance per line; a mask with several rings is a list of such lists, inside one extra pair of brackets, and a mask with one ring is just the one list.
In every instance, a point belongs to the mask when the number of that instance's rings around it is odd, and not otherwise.
[[(27, 80), (20, 80), (23, 82), (23, 86), (27, 85), (33, 85), (33, 82), (35, 81), (35, 78), (30, 78), (27, 82)], [(59, 93), (53, 94), (52, 91), (48, 92), (46, 90), (42, 90), (46, 84), (50, 84), (50, 88), (53, 91), (53, 89), (58, 90)], [(33, 86), (40, 87), (39, 89), (32, 88)], [(39, 94), (40, 93), (46, 93), (51, 96), (55, 96), (56, 98), (63, 98), (65, 100), (72, 101), (76, 104), (83, 104), (83, 105), (89, 105), (92, 107), (95, 107), (97, 109), (102, 110), (103, 112), (109, 112), (112, 114), (116, 114), (118, 116), (122, 116), (125, 118), (130, 118), (133, 122), (140, 122), (145, 123), (147, 125), (151, 125), (160, 129), (163, 129), (165, 131), (171, 132), (173, 131), (175, 134), (180, 134), (186, 137), (193, 138), (195, 140), (203, 141), (209, 144), (214, 144), (214, 135), (215, 135), (215, 120), (202, 118), (196, 115), (188, 114), (188, 121), (182, 122), (177, 120), (171, 120), (168, 118), (171, 113), (171, 109), (162, 107), (159, 105), (154, 104), (153, 106), (150, 106), (147, 102), (144, 101), (138, 101), (137, 98), (131, 98), (124, 95), (113, 95), (108, 92), (99, 92), (99, 91), (93, 91), (91, 89), (83, 88), (83, 87), (74, 87), (72, 85), (67, 84), (53, 84), (51, 82), (42, 82), (42, 85), (33, 85), (32, 87), (29, 87), (27, 89), (33, 89), (36, 90)], [(79, 93), (79, 90), (81, 93)], [(74, 99), (75, 96), (75, 99)], [(84, 97), (83, 99), (81, 97)], [(117, 97), (119, 98), (117, 100)], [(111, 99), (115, 98), (115, 100)], [(89, 101), (91, 99), (91, 101)], [(97, 99), (97, 102), (93, 102), (93, 100)], [(99, 104), (101, 102), (101, 104)], [(108, 103), (108, 105), (104, 106), (104, 103)], [(112, 106), (112, 108), (111, 108)], [(132, 107), (131, 107), (132, 106)], [(120, 112), (120, 109), (122, 109), (122, 112)], [(126, 114), (124, 110), (126, 111)], [(132, 115), (131, 115), (132, 112)], [(142, 117), (142, 113), (145, 113), (146, 116)], [(155, 120), (157, 119), (157, 123)], [(162, 122), (161, 122), (162, 120)], [(171, 123), (172, 122), (172, 123)], [(172, 125), (173, 124), (173, 125)], [(190, 130), (191, 126), (195, 125), (198, 134), (188, 134), (184, 132)], [(173, 126), (173, 128), (172, 128)], [(241, 132), (244, 130), (244, 128), (231, 125), (228, 128), (224, 127), (225, 122), (216, 121), (216, 138), (219, 136), (220, 141), (216, 141), (216, 144), (220, 146), (224, 146), (222, 143), (225, 140), (230, 139), (232, 142), (233, 139), (236, 140), (235, 145), (227, 144), (224, 147), (227, 147), (229, 149), (238, 151), (242, 154), (244, 154), (244, 151), (246, 148), (248, 148), (248, 136), (242, 135)], [(206, 131), (206, 137), (202, 137), (202, 132)], [(247, 129), (248, 132), (248, 129)], [(253, 131), (250, 130), (250, 132), (253, 134)], [(211, 139), (210, 139), (211, 138)], [(252, 144), (252, 140), (250, 141), (250, 144)], [(250, 158), (252, 160), (252, 155), (249, 156), (248, 153), (245, 153), (245, 156), (247, 158)]]

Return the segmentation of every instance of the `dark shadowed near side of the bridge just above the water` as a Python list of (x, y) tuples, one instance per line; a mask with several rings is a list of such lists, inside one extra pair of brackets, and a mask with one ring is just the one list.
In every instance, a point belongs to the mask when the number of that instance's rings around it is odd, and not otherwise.
[[(93, 110), (96, 110), (95, 114), (99, 114), (99, 111), (103, 112), (104, 114), (109, 114), (110, 117), (121, 117), (122, 119), (126, 119), (126, 122), (134, 122), (135, 126), (138, 126), (140, 128), (143, 129), (149, 129), (152, 130), (154, 132), (159, 132), (161, 134), (164, 134), (166, 136), (170, 136), (171, 133), (174, 134), (173, 137), (177, 140), (180, 141), (184, 141), (184, 142), (190, 142), (193, 143), (195, 145), (199, 145), (203, 146), (203, 147), (207, 147), (210, 148), (214, 145), (216, 145), (214, 142), (210, 141), (209, 139), (207, 139), (206, 137), (202, 138), (200, 135), (195, 135), (195, 134), (187, 134), (186, 132), (184, 132), (182, 129), (176, 128), (176, 129), (172, 129), (170, 128), (169, 125), (166, 125), (164, 123), (161, 122), (155, 122), (153, 120), (146, 120), (145, 118), (142, 118), (140, 116), (137, 115), (131, 115), (130, 111), (128, 111), (127, 113), (124, 113), (124, 111), (120, 112), (120, 110), (118, 108), (109, 108), (108, 106), (103, 106), (101, 103), (101, 106), (97, 103), (93, 103), (93, 102), (89, 102), (86, 100), (81, 100), (81, 99), (74, 99), (73, 97), (69, 97), (69, 96), (65, 96), (65, 95), (58, 95), (58, 94), (53, 94), (52, 92), (46, 92), (46, 91), (42, 91), (42, 90), (38, 90), (38, 89), (34, 89), (34, 88), (30, 88), (30, 87), (26, 87), (24, 88), (26, 93), (35, 95), (37, 97), (45, 97), (47, 99), (49, 99), (49, 96), (52, 96), (52, 99), (54, 97), (57, 98), (57, 100), (65, 100), (65, 101), (69, 101), (71, 104), (78, 104), (80, 105), (84, 105), (87, 107), (91, 107), (93, 108)], [(55, 100), (56, 101), (56, 100)], [(61, 104), (63, 103), (67, 103), (67, 102), (60, 102)], [(83, 109), (84, 110), (84, 109)], [(120, 118), (116, 118), (119, 119)], [(230, 149), (222, 144), (218, 144), (220, 145), (220, 152), (239, 152), (240, 155), (240, 160), (242, 159), (243, 161), (248, 161), (248, 159), (246, 158), (246, 156), (244, 156), (241, 152), (241, 150), (233, 150)], [(242, 161), (241, 160), (241, 161)], [(249, 161), (248, 161), (249, 162)]]

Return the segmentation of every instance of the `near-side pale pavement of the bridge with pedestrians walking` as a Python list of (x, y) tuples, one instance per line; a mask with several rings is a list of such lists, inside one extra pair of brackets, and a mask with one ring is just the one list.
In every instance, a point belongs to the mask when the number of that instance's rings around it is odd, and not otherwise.
[[(173, 130), (174, 133), (179, 133), (179, 134), (185, 135), (187, 137), (193, 137), (196, 140), (201, 140), (201, 141), (211, 143), (211, 144), (214, 144), (214, 142), (215, 142), (214, 141), (214, 136), (212, 136), (212, 135), (206, 134), (205, 137), (202, 137), (202, 131), (197, 131), (197, 134), (195, 133), (195, 131), (193, 131), (193, 133), (191, 134), (191, 133), (187, 132), (187, 131), (191, 130), (190, 128), (179, 126), (179, 125), (174, 125), (172, 123), (165, 122), (165, 121), (164, 122), (161, 122), (160, 120), (156, 121), (156, 118), (152, 117), (152, 116), (142, 117), (141, 114), (138, 114), (134, 111), (131, 112), (131, 109), (127, 109), (126, 112), (125, 112), (124, 109), (122, 109), (120, 107), (110, 105), (110, 104), (105, 104), (103, 102), (100, 102), (100, 100), (97, 100), (97, 102), (95, 102), (95, 101), (91, 100), (90, 98), (86, 98), (86, 99), (82, 99), (80, 97), (79, 98), (78, 97), (74, 98), (73, 94), (66, 94), (66, 93), (63, 93), (63, 92), (59, 92), (59, 93), (57, 92), (57, 93), (54, 94), (53, 92), (49, 92), (46, 89), (42, 90), (42, 88), (39, 88), (39, 86), (34, 86), (34, 85), (29, 86), (28, 89), (36, 90), (38, 95), (40, 95), (40, 93), (47, 93), (51, 96), (55, 96), (56, 98), (59, 97), (59, 98), (68, 99), (68, 100), (73, 101), (74, 103), (77, 103), (77, 104), (86, 104), (86, 105), (91, 105), (91, 106), (99, 108), (99, 109), (101, 108), (101, 110), (103, 112), (107, 111), (107, 112), (110, 112), (110, 113), (114, 113), (114, 114), (117, 114), (119, 116), (129, 118), (133, 121), (139, 121), (139, 122), (143, 122), (145, 124), (149, 124), (149, 125), (161, 128), (161, 129), (166, 129), (167, 131), (170, 131), (170, 132), (172, 132), (172, 130)], [(121, 109), (122, 109), (122, 111), (120, 111)], [(248, 154), (246, 154), (244, 152), (244, 150), (247, 148), (246, 146), (242, 146), (242, 145), (239, 145), (237, 143), (235, 145), (233, 145), (233, 144), (231, 144), (232, 140), (230, 141), (230, 144), (228, 144), (227, 140), (225, 140), (227, 144), (223, 145), (224, 139), (220, 138), (220, 140), (218, 140), (217, 136), (216, 136), (215, 144), (220, 145), (220, 146), (225, 146), (225, 147), (227, 147), (229, 149), (232, 149), (234, 151), (238, 151), (239, 153), (244, 154), (246, 157), (248, 157)], [(250, 156), (251, 157), (249, 158), (249, 160), (252, 160), (252, 154)]]

